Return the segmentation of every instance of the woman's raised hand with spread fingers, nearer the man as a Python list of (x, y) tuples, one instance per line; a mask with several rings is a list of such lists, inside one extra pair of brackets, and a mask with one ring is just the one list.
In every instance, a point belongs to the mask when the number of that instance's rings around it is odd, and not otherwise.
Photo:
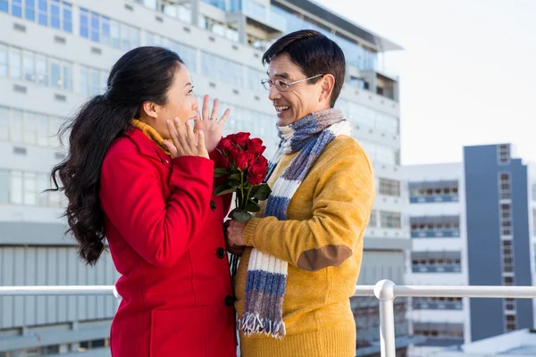
[(218, 120), (218, 99), (214, 99), (213, 110), (210, 116), (208, 115), (209, 97), (205, 95), (203, 98), (203, 109), (201, 111), (201, 118), (196, 119), (196, 125), (194, 129), (203, 130), (205, 133), (205, 146), (206, 150), (210, 153), (213, 151), (220, 140), (222, 139), (223, 124), (229, 117), (230, 109), (223, 112), (222, 118)]

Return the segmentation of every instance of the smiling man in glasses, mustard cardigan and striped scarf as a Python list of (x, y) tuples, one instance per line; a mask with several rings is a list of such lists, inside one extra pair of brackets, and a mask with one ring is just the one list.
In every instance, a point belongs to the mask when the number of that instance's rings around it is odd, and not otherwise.
[(272, 195), (252, 220), (227, 223), (245, 246), (236, 276), (243, 357), (356, 354), (354, 295), (374, 200), (371, 163), (333, 109), (345, 79), (340, 47), (313, 30), (281, 37), (263, 56), (280, 157)]

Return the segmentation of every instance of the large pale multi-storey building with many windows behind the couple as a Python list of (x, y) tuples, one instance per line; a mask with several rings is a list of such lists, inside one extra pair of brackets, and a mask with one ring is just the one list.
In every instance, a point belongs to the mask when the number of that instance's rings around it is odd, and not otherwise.
[[(338, 106), (374, 162), (378, 199), (364, 242), (359, 283), (402, 283), (410, 246), (400, 184), (398, 78), (379, 70), (399, 46), (307, 0), (0, 0), (0, 285), (113, 285), (109, 255), (80, 263), (60, 219), (63, 198), (40, 194), (64, 157), (54, 137), (63, 118), (105, 90), (107, 73), (136, 46), (178, 52), (196, 92), (230, 107), (227, 132), (249, 130), (274, 152), (264, 50), (296, 29), (318, 29), (345, 51)], [(379, 351), (375, 299), (353, 301), (361, 353)], [(116, 308), (105, 297), (0, 297), (0, 356), (107, 352)], [(398, 303), (406, 336), (406, 304)], [(359, 351), (359, 350), (358, 350)], [(360, 353), (360, 352), (358, 352)]]

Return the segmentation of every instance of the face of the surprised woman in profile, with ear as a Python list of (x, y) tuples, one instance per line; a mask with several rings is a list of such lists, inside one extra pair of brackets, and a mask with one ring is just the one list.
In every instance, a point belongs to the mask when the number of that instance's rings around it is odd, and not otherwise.
[(166, 120), (177, 117), (182, 122), (194, 119), (198, 115), (198, 104), (195, 95), (192, 94), (192, 79), (186, 66), (180, 63), (175, 71), (172, 87), (169, 88), (166, 96), (167, 103), (164, 105), (154, 104), (154, 110), (147, 111), (144, 104), (145, 113), (149, 118), (145, 121), (164, 139), (170, 138), (166, 127)]

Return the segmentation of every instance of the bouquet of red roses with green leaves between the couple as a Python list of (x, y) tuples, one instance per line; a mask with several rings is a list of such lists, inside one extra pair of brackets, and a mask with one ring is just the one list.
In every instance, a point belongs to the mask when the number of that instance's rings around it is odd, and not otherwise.
[(229, 218), (240, 222), (250, 220), (251, 212), (258, 212), (259, 202), (272, 192), (263, 182), (268, 173), (268, 160), (263, 156), (266, 146), (263, 140), (249, 136), (244, 132), (230, 134), (216, 147), (223, 155), (224, 167), (215, 168), (214, 176), (225, 180), (214, 195), (236, 193), (236, 207), (229, 213)]

